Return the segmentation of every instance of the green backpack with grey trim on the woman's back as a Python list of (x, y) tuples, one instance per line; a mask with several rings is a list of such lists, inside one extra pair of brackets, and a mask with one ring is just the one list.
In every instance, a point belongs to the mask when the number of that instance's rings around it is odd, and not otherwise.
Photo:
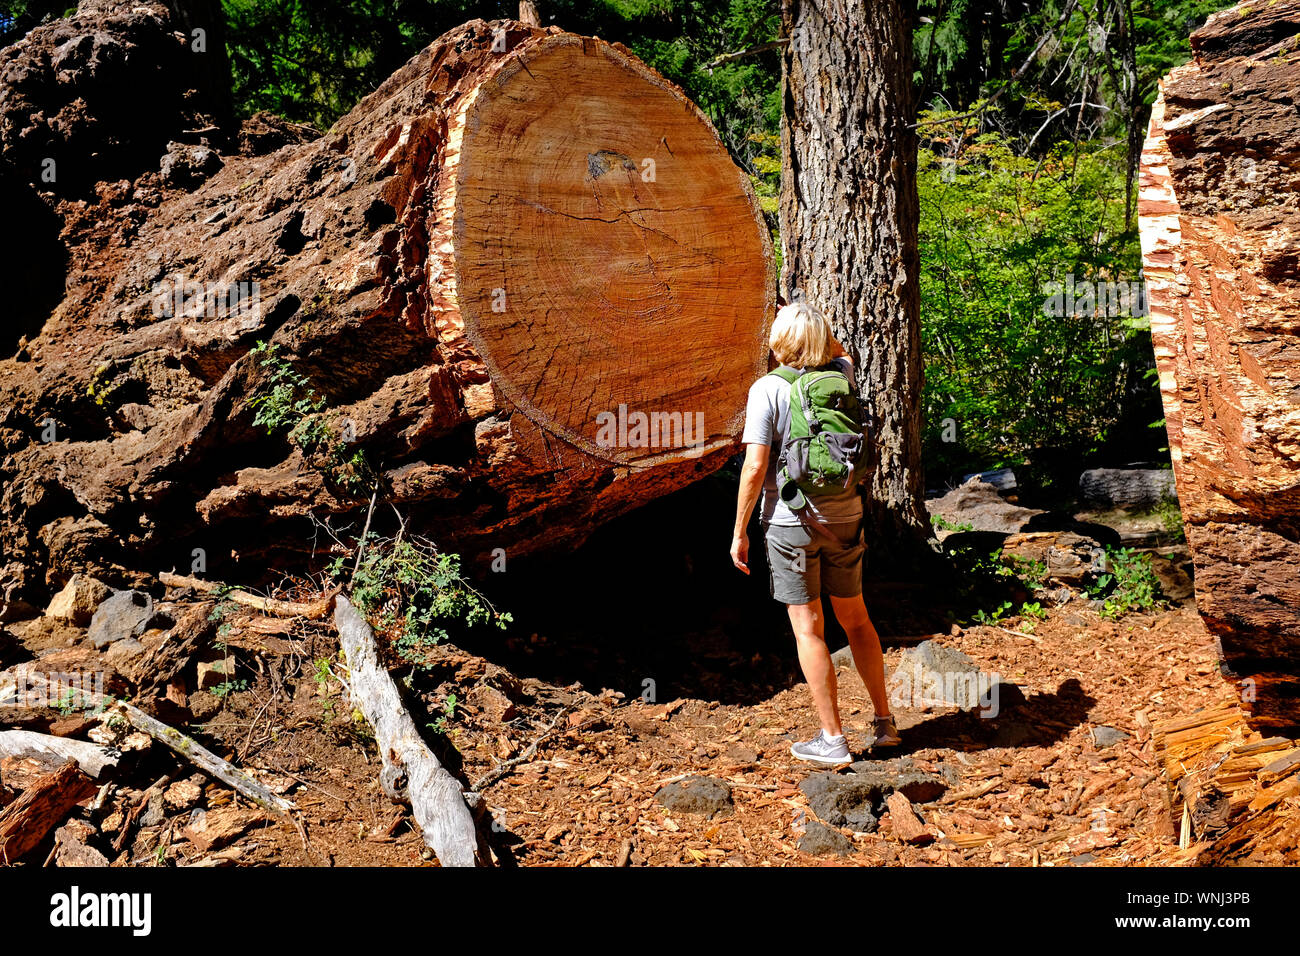
[(870, 467), (870, 428), (849, 377), (838, 368), (772, 371), (790, 384), (790, 433), (781, 445), (776, 486), (792, 510), (805, 496), (841, 494)]

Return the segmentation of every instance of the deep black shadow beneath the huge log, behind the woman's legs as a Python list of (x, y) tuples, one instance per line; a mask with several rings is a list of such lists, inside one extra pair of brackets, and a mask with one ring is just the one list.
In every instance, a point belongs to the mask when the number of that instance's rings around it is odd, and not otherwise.
[[(508, 563), (485, 583), (515, 617), (507, 636), (480, 631), (458, 644), (520, 675), (628, 698), (653, 688), (658, 701), (748, 705), (802, 682), (784, 607), (768, 592), (757, 522), (751, 574), (731, 563), (736, 481), (714, 475), (610, 522), (569, 554)], [(919, 592), (868, 583), (887, 645), (946, 632), (946, 618)], [(828, 643), (845, 644), (838, 624)]]

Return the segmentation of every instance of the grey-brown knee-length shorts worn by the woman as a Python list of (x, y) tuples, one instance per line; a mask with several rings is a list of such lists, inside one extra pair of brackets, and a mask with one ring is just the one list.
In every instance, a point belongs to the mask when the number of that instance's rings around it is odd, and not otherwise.
[(810, 604), (822, 594), (862, 593), (866, 542), (861, 519), (855, 524), (797, 528), (770, 524), (763, 537), (772, 597), (781, 604)]

